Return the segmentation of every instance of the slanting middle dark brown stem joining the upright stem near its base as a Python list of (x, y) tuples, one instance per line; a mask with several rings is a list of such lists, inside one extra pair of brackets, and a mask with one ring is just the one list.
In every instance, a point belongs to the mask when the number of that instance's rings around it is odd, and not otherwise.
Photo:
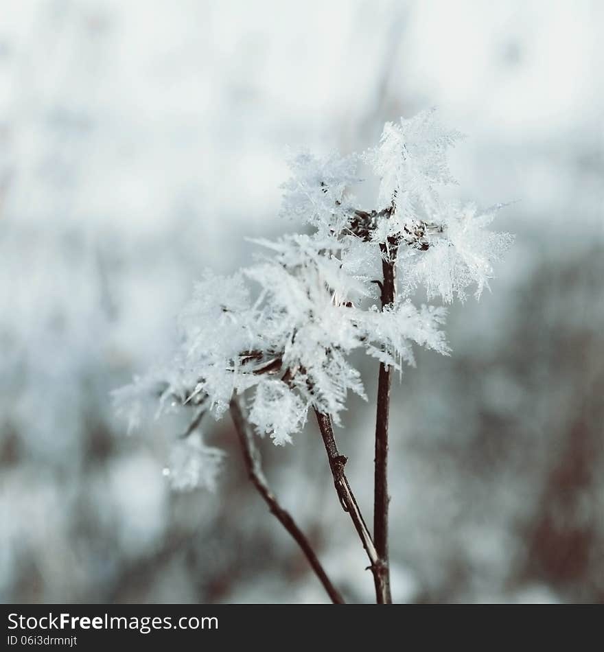
[[(375, 590), (377, 593), (378, 585), (380, 585), (380, 587), (383, 585), (381, 580), (382, 568), (380, 557), (377, 555), (373, 539), (371, 539), (371, 533), (369, 533), (367, 524), (365, 524), (358, 503), (356, 502), (356, 498), (350, 488), (348, 478), (344, 472), (344, 465), (347, 462), (347, 457), (338, 451), (338, 445), (336, 444), (336, 438), (334, 437), (332, 418), (316, 409), (314, 412), (316, 414), (319, 430), (321, 430), (321, 437), (323, 437), (323, 444), (325, 445), (325, 452), (327, 452), (329, 468), (332, 470), (332, 476), (334, 476), (334, 485), (338, 492), (340, 504), (342, 505), (342, 509), (349, 513), (359, 539), (363, 544), (363, 548), (365, 549), (365, 552), (367, 552), (367, 557), (369, 557), (369, 568), (371, 569), (371, 572), (373, 572)], [(380, 593), (377, 593), (377, 600), (378, 602), (380, 601)]]

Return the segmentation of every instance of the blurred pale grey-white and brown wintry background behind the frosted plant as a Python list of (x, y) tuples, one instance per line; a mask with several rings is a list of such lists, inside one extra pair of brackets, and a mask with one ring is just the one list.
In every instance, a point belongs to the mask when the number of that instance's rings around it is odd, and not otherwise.
[[(126, 436), (109, 392), (169, 355), (206, 268), (251, 261), (286, 146), (348, 153), (438, 106), (448, 192), (516, 234), (451, 358), (393, 389), (395, 601), (604, 601), (604, 3), (0, 1), (0, 598), (321, 602), (248, 483), (162, 475), (182, 423)], [(371, 208), (369, 184), (364, 207)], [(421, 299), (421, 297), (420, 297)], [(336, 432), (371, 520), (373, 398)], [(349, 601), (371, 574), (313, 423), (259, 442)]]

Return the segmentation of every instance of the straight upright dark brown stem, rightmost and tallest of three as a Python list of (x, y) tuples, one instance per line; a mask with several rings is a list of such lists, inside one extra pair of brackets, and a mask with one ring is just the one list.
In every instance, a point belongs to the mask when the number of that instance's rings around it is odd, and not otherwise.
[[(397, 243), (381, 244), (382, 250), (382, 310), (392, 305), (396, 294), (395, 261)], [(377, 415), (375, 417), (375, 478), (373, 496), (373, 540), (380, 560), (379, 577), (375, 577), (377, 602), (384, 605), (392, 602), (390, 590), (390, 568), (388, 560), (388, 412), (390, 410), (390, 387), (392, 367), (380, 362), (377, 380)], [(379, 585), (378, 585), (379, 584)]]

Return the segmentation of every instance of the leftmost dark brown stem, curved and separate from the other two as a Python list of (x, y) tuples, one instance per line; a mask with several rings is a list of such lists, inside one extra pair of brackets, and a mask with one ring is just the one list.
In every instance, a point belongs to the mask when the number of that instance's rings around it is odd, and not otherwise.
[(308, 563), (310, 563), (312, 570), (316, 574), (316, 577), (318, 577), (318, 579), (321, 581), (321, 584), (323, 584), (323, 587), (325, 588), (325, 591), (327, 591), (329, 598), (331, 598), (332, 603), (337, 605), (344, 604), (344, 598), (342, 598), (340, 592), (336, 589), (336, 587), (334, 587), (329, 577), (327, 577), (327, 573), (325, 572), (323, 566), (321, 566), (321, 562), (318, 561), (318, 558), (312, 549), (312, 545), (305, 537), (301, 529), (297, 526), (290, 513), (281, 507), (277, 497), (274, 493), (272, 493), (270, 487), (268, 487), (268, 482), (266, 481), (266, 477), (262, 471), (260, 452), (257, 449), (254, 440), (254, 433), (251, 429), (250, 424), (248, 423), (248, 420), (246, 419), (246, 415), (244, 415), (244, 408), (242, 408), (240, 401), (236, 397), (231, 399), (231, 418), (233, 419), (235, 431), (237, 432), (237, 436), (239, 438), (244, 463), (248, 471), (248, 476), (252, 481), (254, 487), (257, 489), (260, 496), (262, 496), (264, 502), (266, 502), (268, 505), (268, 509), (270, 509), (271, 513), (277, 517), (281, 525), (286, 528), (288, 533), (292, 535), (297, 544), (300, 546), (302, 552), (308, 560)]

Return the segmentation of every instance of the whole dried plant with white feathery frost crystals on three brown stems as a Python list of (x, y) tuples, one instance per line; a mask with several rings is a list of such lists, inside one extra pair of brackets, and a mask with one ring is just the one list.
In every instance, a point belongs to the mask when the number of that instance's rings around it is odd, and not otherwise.
[[(252, 478), (262, 480), (255, 485), (272, 511), (275, 497), (263, 490), (266, 481), (249, 424), (283, 445), (313, 410), (338, 496), (369, 555), (380, 603), (391, 601), (386, 476), (391, 375), (414, 364), (414, 344), (449, 353), (441, 329), (445, 308), (417, 307), (413, 296), (423, 286), (428, 300), (440, 297), (445, 304), (455, 297), (464, 301), (470, 288), (478, 298), (489, 287), (493, 263), (512, 241), (487, 229), (500, 205), (480, 211), (439, 196), (439, 186), (453, 182), (447, 151), (459, 138), (430, 110), (387, 123), (379, 145), (361, 156), (292, 156), (281, 212), (309, 224), (312, 233), (258, 240), (262, 253), (253, 266), (230, 277), (208, 272), (179, 319), (174, 360), (114, 395), (130, 428), (149, 412), (195, 410), (181, 449), (172, 452), (174, 468), (166, 471), (181, 488), (213, 485), (221, 456), (202, 443), (199, 425), (202, 415), (219, 419), (231, 406), (244, 457), (255, 471)], [(369, 211), (351, 194), (360, 183), (360, 161), (380, 178), (377, 205)], [(349, 392), (366, 398), (360, 372), (350, 361), (356, 349), (380, 362), (373, 535), (354, 500), (343, 471), (346, 458), (332, 430), (332, 421), (342, 423)], [(157, 406), (150, 410), (146, 403), (152, 396)], [(247, 415), (236, 398), (243, 396)], [(279, 518), (321, 577), (307, 542), (288, 526), (291, 517)], [(327, 578), (321, 580), (338, 601)]]

